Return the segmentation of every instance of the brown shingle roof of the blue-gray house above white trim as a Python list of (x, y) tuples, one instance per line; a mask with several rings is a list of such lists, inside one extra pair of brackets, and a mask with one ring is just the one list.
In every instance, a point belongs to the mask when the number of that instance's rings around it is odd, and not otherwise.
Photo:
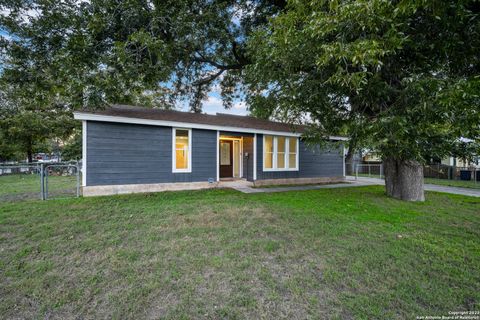
[(210, 115), (173, 110), (150, 109), (128, 105), (113, 105), (112, 107), (104, 110), (82, 111), (81, 113), (279, 132), (302, 133), (306, 129), (306, 126), (303, 125), (294, 126), (287, 123), (263, 120), (251, 116), (237, 116), (224, 113)]

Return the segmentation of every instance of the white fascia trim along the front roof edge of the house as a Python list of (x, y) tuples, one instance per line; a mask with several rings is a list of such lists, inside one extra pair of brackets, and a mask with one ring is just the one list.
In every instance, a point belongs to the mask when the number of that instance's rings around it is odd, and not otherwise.
[[(301, 133), (287, 132), (287, 131), (262, 130), (262, 129), (232, 127), (232, 126), (218, 126), (218, 125), (171, 121), (171, 120), (166, 121), (166, 120), (153, 120), (153, 119), (130, 118), (130, 117), (120, 117), (120, 116), (107, 116), (107, 115), (85, 113), (85, 112), (74, 112), (73, 116), (76, 120), (83, 120), (83, 121), (130, 123), (130, 124), (143, 124), (143, 125), (151, 125), (151, 126), (233, 131), (233, 132), (242, 132), (242, 133), (270, 134), (270, 135), (281, 134), (289, 137), (300, 137), (302, 135)], [(339, 140), (339, 141), (348, 140), (348, 138), (340, 137), (340, 136), (330, 136), (329, 139)]]

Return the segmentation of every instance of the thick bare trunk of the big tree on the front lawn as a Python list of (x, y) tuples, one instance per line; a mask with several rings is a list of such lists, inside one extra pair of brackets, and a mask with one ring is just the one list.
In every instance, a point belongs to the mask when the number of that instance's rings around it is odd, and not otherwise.
[(390, 197), (425, 201), (423, 166), (413, 160), (384, 159), (385, 191)]

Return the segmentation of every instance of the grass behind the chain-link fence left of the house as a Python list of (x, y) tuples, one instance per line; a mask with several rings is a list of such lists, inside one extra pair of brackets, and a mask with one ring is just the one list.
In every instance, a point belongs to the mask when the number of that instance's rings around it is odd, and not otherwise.
[[(76, 176), (49, 176), (48, 191), (52, 195), (74, 190)], [(72, 195), (74, 192), (69, 192)], [(15, 174), (0, 176), (0, 200), (22, 200), (40, 198), (40, 176), (37, 174)]]

